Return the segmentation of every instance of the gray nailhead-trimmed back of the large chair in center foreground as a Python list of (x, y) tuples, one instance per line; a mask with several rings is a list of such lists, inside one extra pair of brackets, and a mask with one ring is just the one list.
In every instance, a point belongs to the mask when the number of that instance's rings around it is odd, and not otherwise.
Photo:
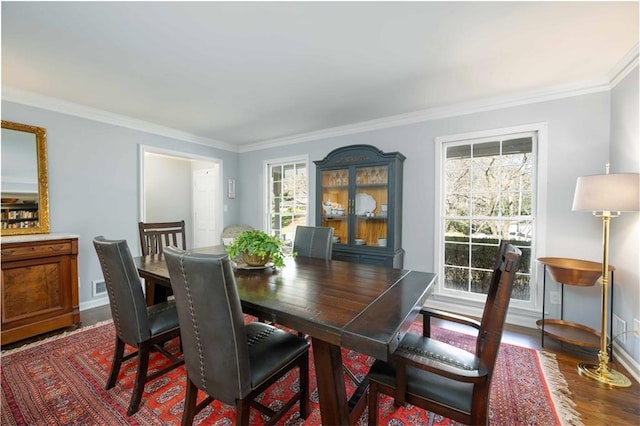
[(175, 295), (189, 379), (235, 405), (251, 391), (240, 297), (228, 256), (164, 251)]

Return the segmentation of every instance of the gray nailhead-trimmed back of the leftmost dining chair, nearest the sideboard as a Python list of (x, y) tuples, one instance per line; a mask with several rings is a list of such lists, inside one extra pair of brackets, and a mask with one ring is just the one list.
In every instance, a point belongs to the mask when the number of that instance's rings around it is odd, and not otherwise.
[(93, 245), (102, 267), (116, 333), (122, 341), (137, 347), (151, 337), (151, 332), (142, 284), (127, 241), (99, 236), (93, 239)]

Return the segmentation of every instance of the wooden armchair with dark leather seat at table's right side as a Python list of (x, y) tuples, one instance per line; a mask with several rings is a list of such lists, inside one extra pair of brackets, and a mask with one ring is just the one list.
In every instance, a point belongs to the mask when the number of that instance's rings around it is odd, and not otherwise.
[[(380, 393), (393, 396), (397, 406), (407, 402), (428, 410), (429, 425), (435, 413), (465, 424), (487, 424), (491, 378), (520, 256), (511, 244), (501, 246), (480, 321), (423, 309), (423, 335), (407, 333), (389, 361), (373, 363), (367, 376), (370, 425), (378, 423)], [(431, 338), (431, 317), (477, 329), (475, 352)]]

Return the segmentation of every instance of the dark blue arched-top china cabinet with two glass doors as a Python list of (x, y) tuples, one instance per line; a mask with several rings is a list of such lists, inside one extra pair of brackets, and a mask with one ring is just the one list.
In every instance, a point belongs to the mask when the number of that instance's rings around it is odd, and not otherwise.
[(333, 259), (402, 267), (404, 159), (351, 145), (314, 161), (316, 224), (333, 228)]

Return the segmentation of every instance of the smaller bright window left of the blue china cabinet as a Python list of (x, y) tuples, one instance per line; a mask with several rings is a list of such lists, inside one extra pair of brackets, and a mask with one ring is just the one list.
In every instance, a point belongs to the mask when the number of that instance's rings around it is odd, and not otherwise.
[(267, 163), (267, 230), (291, 246), (297, 226), (307, 224), (308, 169), (306, 158)]

